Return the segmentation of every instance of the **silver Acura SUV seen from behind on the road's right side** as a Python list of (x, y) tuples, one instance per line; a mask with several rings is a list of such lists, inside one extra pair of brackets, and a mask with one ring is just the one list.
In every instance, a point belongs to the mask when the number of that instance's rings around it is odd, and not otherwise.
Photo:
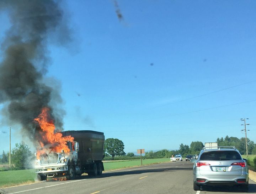
[(246, 159), (235, 147), (203, 148), (198, 160), (192, 159), (194, 190), (202, 186), (240, 185), (248, 190), (249, 173)]

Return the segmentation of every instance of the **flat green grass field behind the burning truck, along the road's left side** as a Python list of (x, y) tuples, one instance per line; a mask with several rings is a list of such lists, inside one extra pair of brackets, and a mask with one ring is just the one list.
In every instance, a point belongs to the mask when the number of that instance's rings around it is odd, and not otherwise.
[[(158, 164), (170, 161), (169, 158), (142, 160), (142, 165)], [(128, 167), (140, 166), (140, 160), (104, 162), (105, 171), (124, 169)], [(33, 169), (14, 170), (0, 172), (0, 188), (17, 186), (37, 182), (36, 173)]]

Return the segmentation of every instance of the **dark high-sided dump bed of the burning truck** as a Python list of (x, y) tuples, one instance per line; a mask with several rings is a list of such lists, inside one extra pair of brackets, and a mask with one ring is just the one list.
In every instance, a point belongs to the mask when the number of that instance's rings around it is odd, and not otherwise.
[(71, 135), (79, 143), (78, 158), (81, 165), (103, 159), (105, 136), (97, 131), (63, 131), (63, 136)]

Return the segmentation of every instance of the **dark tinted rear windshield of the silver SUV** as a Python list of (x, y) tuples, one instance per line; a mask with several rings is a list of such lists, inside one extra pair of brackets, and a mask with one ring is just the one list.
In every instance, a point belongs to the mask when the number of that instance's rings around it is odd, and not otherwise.
[(200, 160), (241, 160), (241, 156), (236, 151), (210, 151), (204, 152)]

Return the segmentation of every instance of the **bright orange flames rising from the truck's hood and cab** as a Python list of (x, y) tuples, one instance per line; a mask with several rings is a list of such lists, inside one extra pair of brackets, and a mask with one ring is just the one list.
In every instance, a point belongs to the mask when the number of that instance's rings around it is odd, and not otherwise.
[[(50, 119), (49, 115), (49, 108), (43, 108), (42, 113), (39, 114), (39, 116), (34, 119), (38, 122), (41, 131), (39, 144), (40, 147), (37, 149), (37, 158), (39, 159), (39, 156), (41, 154), (45, 153), (60, 153), (62, 150), (64, 152), (70, 152), (70, 149), (68, 148), (66, 142), (74, 142), (74, 137), (71, 136), (62, 136), (62, 133), (54, 132), (55, 126), (52, 119)], [(46, 148), (49, 147), (49, 148)]]

